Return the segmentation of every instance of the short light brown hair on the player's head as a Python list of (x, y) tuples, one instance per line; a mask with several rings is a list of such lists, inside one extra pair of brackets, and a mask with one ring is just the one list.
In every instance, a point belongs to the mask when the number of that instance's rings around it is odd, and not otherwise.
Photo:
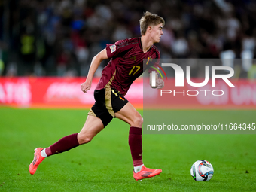
[(151, 14), (151, 12), (147, 11), (142, 18), (139, 20), (141, 35), (145, 35), (148, 29), (148, 26), (157, 26), (158, 24), (165, 24), (163, 17), (158, 16), (157, 14)]

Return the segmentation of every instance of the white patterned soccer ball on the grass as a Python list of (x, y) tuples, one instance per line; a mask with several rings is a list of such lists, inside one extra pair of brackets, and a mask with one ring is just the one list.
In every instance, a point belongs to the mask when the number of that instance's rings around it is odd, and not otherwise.
[(213, 175), (212, 164), (207, 160), (197, 160), (191, 166), (190, 174), (195, 181), (209, 181)]

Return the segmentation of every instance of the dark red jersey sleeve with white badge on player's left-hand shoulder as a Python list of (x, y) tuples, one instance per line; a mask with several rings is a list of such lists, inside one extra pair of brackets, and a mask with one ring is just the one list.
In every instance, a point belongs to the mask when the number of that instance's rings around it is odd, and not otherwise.
[(107, 44), (106, 50), (108, 59), (112, 57), (118, 57), (125, 51), (128, 47), (126, 46), (126, 40), (120, 40), (115, 42), (114, 44)]

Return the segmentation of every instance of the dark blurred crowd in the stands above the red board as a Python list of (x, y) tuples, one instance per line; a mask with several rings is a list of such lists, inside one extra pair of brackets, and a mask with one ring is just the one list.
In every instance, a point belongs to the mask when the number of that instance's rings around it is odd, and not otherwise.
[[(161, 58), (256, 56), (253, 0), (5, 0), (0, 1), (0, 75), (86, 76), (106, 44), (140, 36), (145, 11), (166, 20), (156, 44)], [(242, 66), (245, 72), (251, 68)]]

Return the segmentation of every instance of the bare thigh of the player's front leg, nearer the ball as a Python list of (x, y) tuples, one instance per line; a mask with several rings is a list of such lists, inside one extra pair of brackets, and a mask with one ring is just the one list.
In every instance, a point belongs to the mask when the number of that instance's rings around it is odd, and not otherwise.
[(143, 118), (130, 102), (117, 111), (115, 117), (129, 123), (130, 126), (142, 127)]

